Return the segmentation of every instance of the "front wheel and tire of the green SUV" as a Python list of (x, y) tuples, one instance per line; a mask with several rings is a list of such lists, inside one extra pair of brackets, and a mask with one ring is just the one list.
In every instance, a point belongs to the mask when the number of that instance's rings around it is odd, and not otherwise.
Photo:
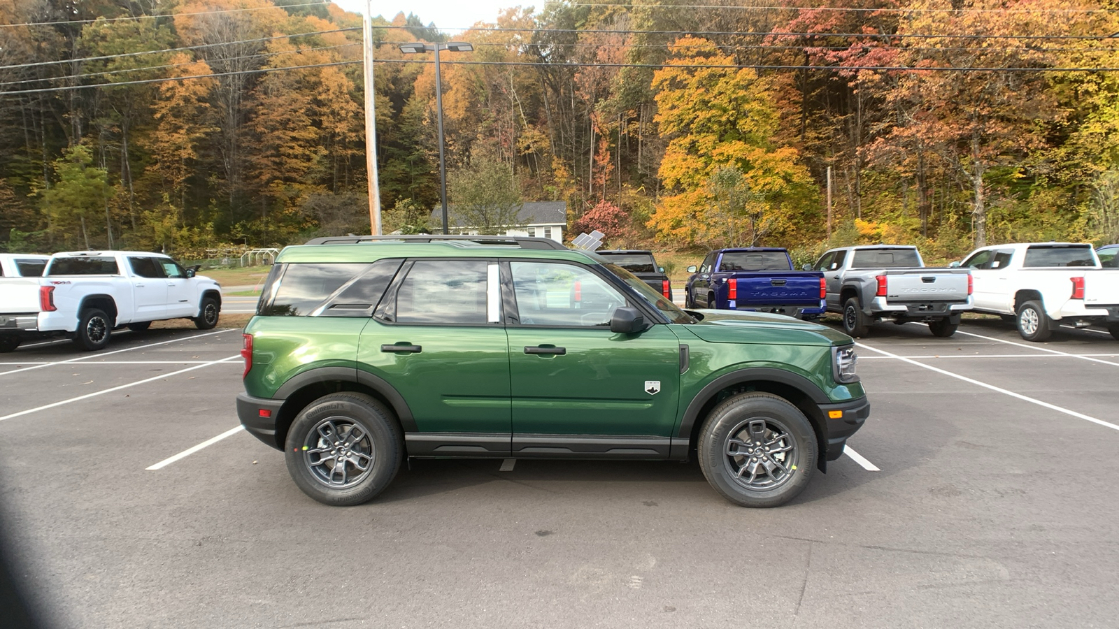
[[(772, 452), (779, 448), (784, 449), (777, 453), (780, 458)], [(816, 433), (803, 413), (771, 393), (743, 393), (715, 406), (699, 432), (697, 452), (707, 482), (743, 507), (777, 507), (793, 499), (808, 487), (818, 456)]]

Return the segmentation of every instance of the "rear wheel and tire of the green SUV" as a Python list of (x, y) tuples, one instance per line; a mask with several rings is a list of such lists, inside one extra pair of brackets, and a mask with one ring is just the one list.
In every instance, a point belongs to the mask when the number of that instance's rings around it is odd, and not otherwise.
[[(354, 430), (359, 433), (354, 434)], [(325, 395), (300, 411), (288, 431), (288, 472), (303, 494), (323, 505), (367, 503), (388, 487), (401, 468), (401, 434), (392, 413), (373, 397), (361, 393)], [(330, 435), (338, 441), (331, 443)], [(339, 471), (340, 453), (346, 459)]]

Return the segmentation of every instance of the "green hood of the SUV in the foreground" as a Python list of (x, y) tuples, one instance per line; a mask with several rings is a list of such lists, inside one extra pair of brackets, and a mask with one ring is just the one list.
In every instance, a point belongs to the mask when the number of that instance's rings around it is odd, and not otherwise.
[(849, 345), (849, 336), (827, 326), (769, 312), (698, 310), (703, 320), (685, 329), (707, 342), (770, 345)]

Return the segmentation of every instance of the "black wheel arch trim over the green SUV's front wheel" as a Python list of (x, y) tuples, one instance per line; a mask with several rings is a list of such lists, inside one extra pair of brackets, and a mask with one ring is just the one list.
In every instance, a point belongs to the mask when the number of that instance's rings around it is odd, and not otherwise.
[(830, 404), (831, 400), (808, 378), (773, 367), (751, 367), (715, 378), (692, 400), (676, 439), (687, 439), (687, 453), (692, 457), (699, 442), (699, 431), (711, 411), (723, 400), (739, 393), (747, 392), (772, 393), (793, 406), (808, 419), (816, 433), (817, 462), (820, 471), (826, 471), (826, 453), (828, 444), (827, 421), (820, 411), (820, 404)]

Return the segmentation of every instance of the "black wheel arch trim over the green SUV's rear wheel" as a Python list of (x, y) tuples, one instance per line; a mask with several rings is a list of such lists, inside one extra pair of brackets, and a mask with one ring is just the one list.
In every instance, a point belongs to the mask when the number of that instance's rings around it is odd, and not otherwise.
[(387, 407), (403, 432), (415, 432), (415, 417), (404, 396), (383, 378), (354, 367), (319, 367), (303, 372), (281, 386), (273, 398), (283, 400), (276, 414), (276, 447), (284, 449), (288, 430), (299, 412), (323, 395), (340, 392), (364, 393)]

